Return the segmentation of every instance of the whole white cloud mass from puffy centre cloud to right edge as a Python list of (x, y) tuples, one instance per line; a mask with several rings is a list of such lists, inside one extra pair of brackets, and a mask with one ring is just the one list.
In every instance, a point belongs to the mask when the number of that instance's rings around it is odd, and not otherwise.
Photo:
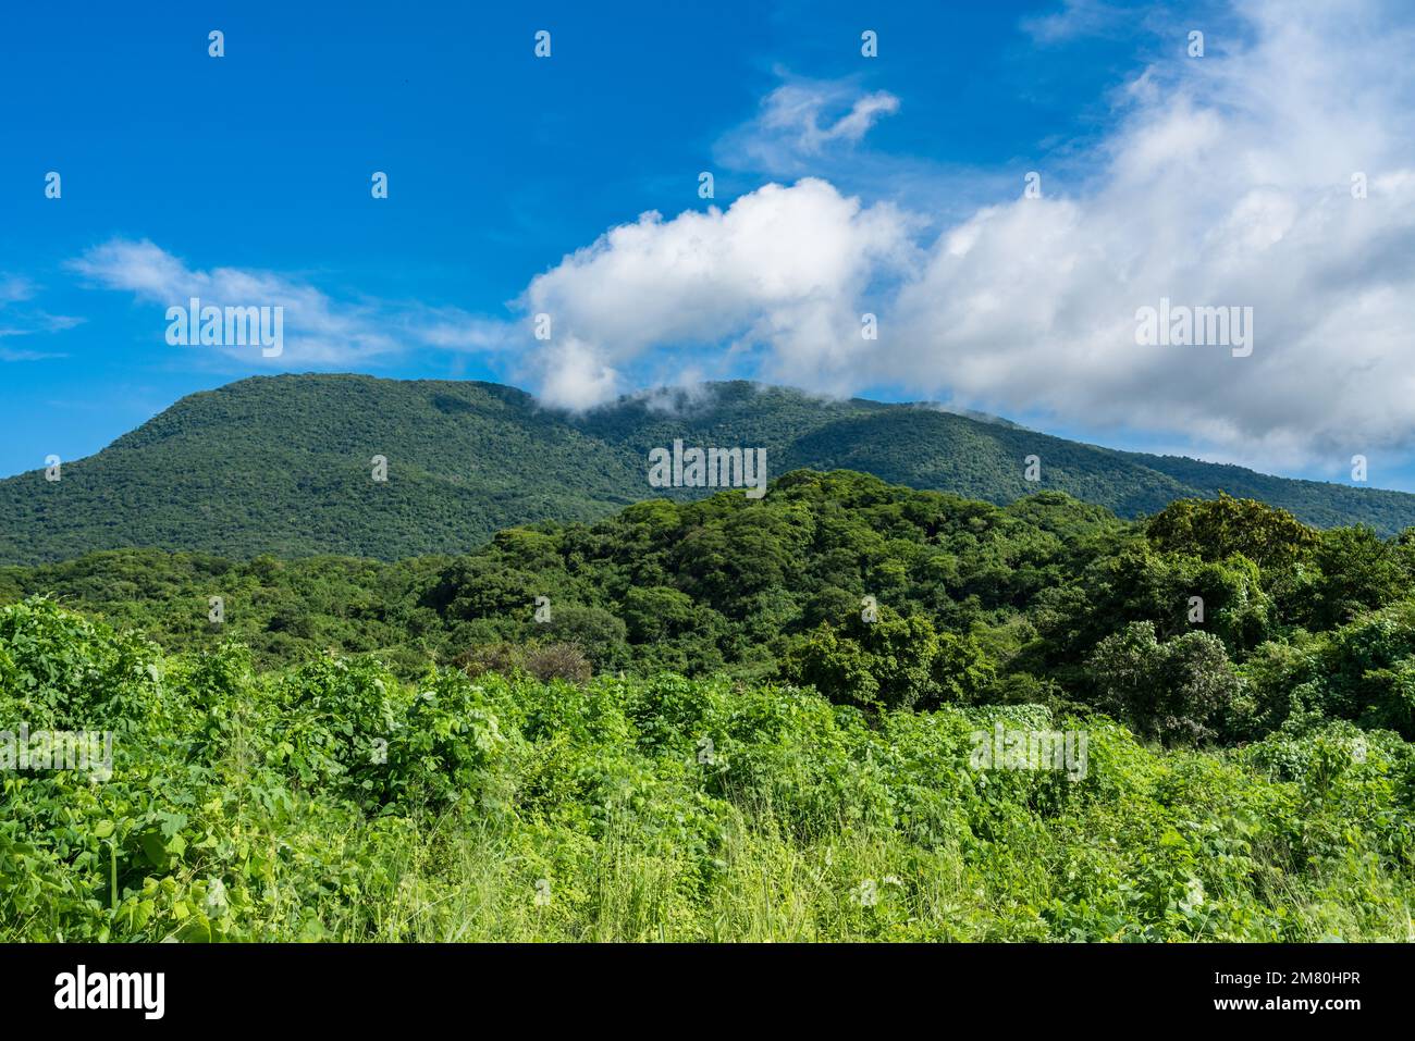
[[(699, 345), (692, 364), (708, 369), (734, 352), (808, 389), (893, 385), (1252, 464), (1408, 447), (1411, 30), (1374, 1), (1237, 13), (1241, 35), (1210, 34), (1204, 58), (1183, 57), (1187, 27), (1170, 27), (1174, 57), (1116, 92), (1084, 184), (1041, 163), (1040, 198), (1017, 182), (940, 228), (805, 178), (611, 229), (522, 300), (573, 337), (570, 366), (556, 355), (569, 348), (541, 349), (543, 389), (583, 406), (655, 351)], [(799, 156), (863, 133), (884, 110), (873, 105), (828, 120), (778, 91), (753, 133), (774, 127)], [(1252, 354), (1139, 347), (1136, 311), (1162, 297), (1252, 307)], [(877, 341), (860, 335), (865, 311)]]

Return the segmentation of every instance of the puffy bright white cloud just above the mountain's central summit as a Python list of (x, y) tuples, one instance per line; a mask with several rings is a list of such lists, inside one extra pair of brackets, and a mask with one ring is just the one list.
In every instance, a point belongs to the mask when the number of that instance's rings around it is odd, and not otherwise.
[(770, 184), (726, 211), (644, 214), (526, 289), (522, 307), (550, 320), (542, 395), (586, 407), (621, 389), (623, 362), (685, 347), (766, 347), (818, 376), (853, 373), (869, 354), (856, 301), (917, 263), (908, 231), (890, 204), (819, 180)]

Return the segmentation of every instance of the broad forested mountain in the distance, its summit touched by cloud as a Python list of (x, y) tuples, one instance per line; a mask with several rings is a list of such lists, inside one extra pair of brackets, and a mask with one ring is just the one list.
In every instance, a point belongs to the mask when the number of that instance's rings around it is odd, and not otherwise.
[[(1319, 526), (1415, 525), (1415, 495), (1293, 481), (1189, 458), (1115, 451), (938, 406), (824, 400), (709, 383), (583, 416), (481, 382), (282, 375), (190, 395), (61, 479), (0, 481), (0, 563), (151, 546), (250, 557), (399, 559), (467, 550), (501, 528), (591, 520), (658, 489), (647, 455), (685, 446), (766, 448), (768, 477), (857, 470), (1006, 504), (1058, 489), (1121, 516), (1220, 491)], [(372, 479), (374, 457), (388, 479)], [(1040, 482), (1023, 460), (1039, 455)]]

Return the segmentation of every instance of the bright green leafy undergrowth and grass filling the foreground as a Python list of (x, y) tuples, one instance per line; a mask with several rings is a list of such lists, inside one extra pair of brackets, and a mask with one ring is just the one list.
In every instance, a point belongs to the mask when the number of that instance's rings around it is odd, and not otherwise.
[[(1412, 929), (1412, 745), (1350, 723), (1160, 751), (1097, 714), (863, 710), (723, 677), (256, 675), (236, 644), (163, 655), (45, 600), (0, 608), (0, 720), (115, 731), (102, 782), (0, 774), (0, 939)], [(995, 723), (1084, 727), (1085, 775), (974, 768)]]

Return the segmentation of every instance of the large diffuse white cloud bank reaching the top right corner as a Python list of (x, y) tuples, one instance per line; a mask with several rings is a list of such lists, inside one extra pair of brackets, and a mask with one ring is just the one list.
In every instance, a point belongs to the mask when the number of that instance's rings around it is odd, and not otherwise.
[[(886, 372), (1276, 465), (1408, 444), (1409, 31), (1377, 4), (1242, 13), (1252, 44), (1138, 81), (1087, 194), (940, 238), (894, 301), (908, 347), (882, 352)], [(1136, 347), (1135, 311), (1162, 297), (1252, 307), (1254, 354)]]

